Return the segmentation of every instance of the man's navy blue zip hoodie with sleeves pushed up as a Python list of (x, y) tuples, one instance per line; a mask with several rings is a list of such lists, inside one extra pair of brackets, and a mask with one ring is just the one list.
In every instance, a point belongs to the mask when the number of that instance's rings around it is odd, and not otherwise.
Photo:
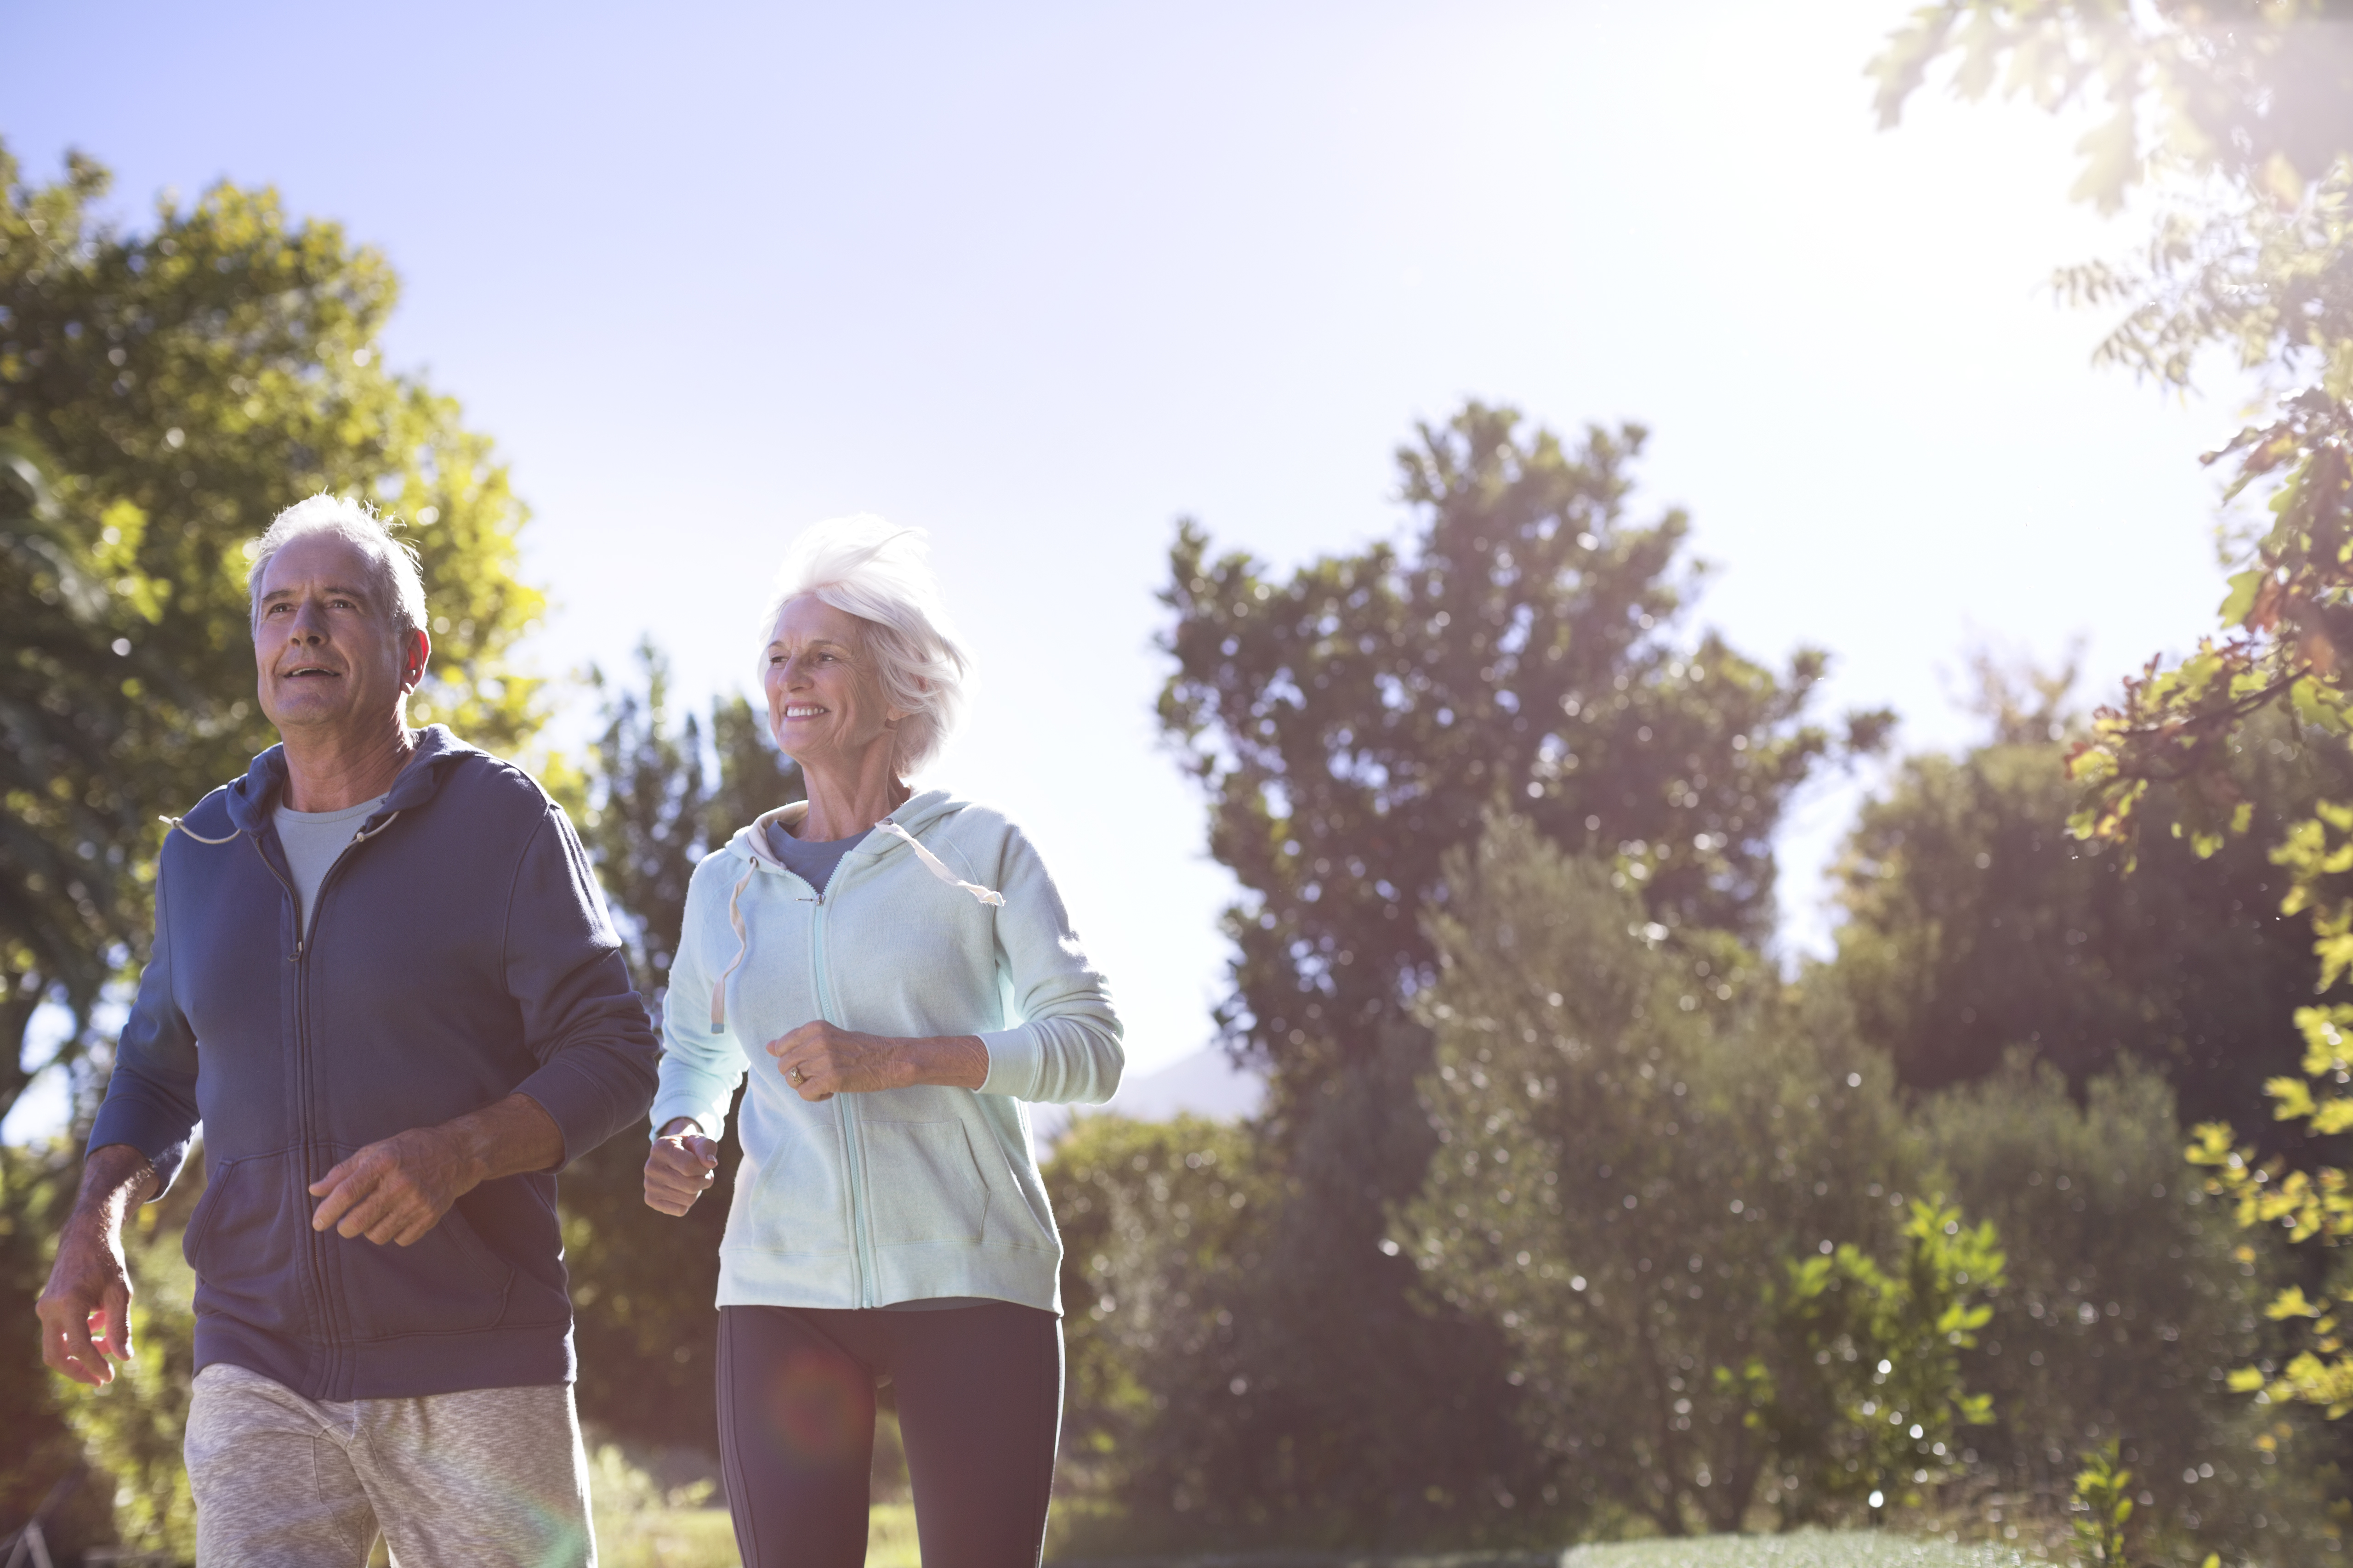
[(414, 1246), (313, 1232), (308, 1185), (518, 1091), (567, 1164), (645, 1117), (659, 1044), (579, 837), (529, 773), (435, 724), (296, 938), (282, 788), (271, 748), (165, 839), (89, 1147), (127, 1143), (169, 1185), (205, 1124), (198, 1368), (308, 1399), (569, 1382), (553, 1173), (482, 1182)]

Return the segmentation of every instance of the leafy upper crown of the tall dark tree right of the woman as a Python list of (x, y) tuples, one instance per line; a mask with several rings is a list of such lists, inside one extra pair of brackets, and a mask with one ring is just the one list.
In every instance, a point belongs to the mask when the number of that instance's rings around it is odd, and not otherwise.
[[(1774, 825), (1831, 750), (1800, 722), (1824, 661), (1774, 675), (1715, 635), (1678, 639), (1689, 522), (1628, 517), (1642, 440), (1595, 428), (1569, 451), (1473, 402), (1398, 454), (1405, 548), (1287, 581), (1179, 529), (1160, 722), (1242, 884), (1221, 1023), (1278, 1107), (1405, 1016), (1445, 853), (1497, 802), (1612, 858), (1671, 931), (1769, 926)], [(1857, 717), (1849, 738), (1885, 724)]]

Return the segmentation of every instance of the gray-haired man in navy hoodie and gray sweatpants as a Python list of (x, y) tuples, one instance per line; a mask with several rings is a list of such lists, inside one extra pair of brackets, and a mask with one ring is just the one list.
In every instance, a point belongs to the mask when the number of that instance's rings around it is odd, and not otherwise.
[(654, 1032), (562, 809), (407, 726), (414, 555), (315, 496), (247, 581), (280, 745), (165, 839), (42, 1356), (132, 1354), (122, 1218), (202, 1119), (198, 1561), (593, 1563), (553, 1173), (645, 1117)]

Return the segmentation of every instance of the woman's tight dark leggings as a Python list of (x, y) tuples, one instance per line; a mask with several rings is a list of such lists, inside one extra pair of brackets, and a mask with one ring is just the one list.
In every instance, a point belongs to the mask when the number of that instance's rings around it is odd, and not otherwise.
[(922, 1568), (1035, 1568), (1061, 1436), (1061, 1321), (720, 1307), (720, 1462), (746, 1568), (859, 1568), (875, 1375), (899, 1394)]

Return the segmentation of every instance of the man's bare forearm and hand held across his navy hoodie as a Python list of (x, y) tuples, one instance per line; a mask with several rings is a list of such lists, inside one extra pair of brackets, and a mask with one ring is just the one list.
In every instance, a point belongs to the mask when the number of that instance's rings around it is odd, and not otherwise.
[(449, 1204), (499, 1175), (548, 1171), (565, 1157), (565, 1135), (529, 1095), (506, 1095), (489, 1110), (440, 1126), (416, 1126), (367, 1145), (311, 1182), (322, 1199), (311, 1229), (414, 1246), (440, 1225)]

